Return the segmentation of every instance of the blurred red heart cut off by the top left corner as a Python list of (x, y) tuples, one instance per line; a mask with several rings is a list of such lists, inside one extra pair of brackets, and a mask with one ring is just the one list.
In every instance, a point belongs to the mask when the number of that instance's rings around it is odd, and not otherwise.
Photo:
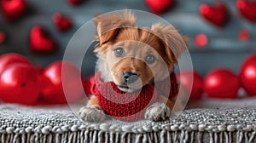
[(7, 20), (17, 20), (26, 12), (26, 2), (24, 0), (2, 0), (1, 8)]

